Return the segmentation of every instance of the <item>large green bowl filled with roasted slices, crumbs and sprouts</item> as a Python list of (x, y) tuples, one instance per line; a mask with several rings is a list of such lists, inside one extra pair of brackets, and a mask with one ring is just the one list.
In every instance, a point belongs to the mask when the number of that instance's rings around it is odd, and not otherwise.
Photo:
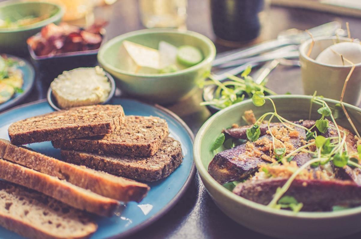
[(361, 231), (361, 109), (343, 105), (349, 118), (336, 100), (255, 92), (209, 118), (193, 153), (218, 207), (278, 238)]

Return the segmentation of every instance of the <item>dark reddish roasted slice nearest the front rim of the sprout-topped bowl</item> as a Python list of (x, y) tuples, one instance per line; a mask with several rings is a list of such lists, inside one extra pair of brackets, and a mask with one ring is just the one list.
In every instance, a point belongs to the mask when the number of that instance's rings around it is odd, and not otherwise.
[[(249, 180), (239, 183), (233, 192), (245, 199), (267, 205), (277, 188), (282, 187), (286, 181), (286, 178)], [(329, 211), (335, 205), (361, 205), (361, 186), (351, 181), (295, 179), (284, 195), (303, 203), (302, 211)]]

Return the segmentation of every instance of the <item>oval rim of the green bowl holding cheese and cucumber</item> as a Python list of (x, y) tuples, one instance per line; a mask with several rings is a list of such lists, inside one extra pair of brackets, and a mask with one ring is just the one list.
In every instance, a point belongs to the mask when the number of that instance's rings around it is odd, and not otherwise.
[[(210, 49), (210, 53), (208, 54), (208, 56), (206, 56), (201, 62), (199, 62), (198, 64), (188, 67), (186, 69), (183, 70), (179, 70), (179, 71), (175, 71), (173, 73), (155, 73), (155, 74), (145, 74), (145, 73), (131, 73), (129, 71), (125, 71), (125, 70), (121, 70), (119, 68), (116, 68), (108, 63), (106, 63), (105, 61), (105, 57), (104, 57), (104, 52), (106, 49), (108, 49), (110, 46), (112, 46), (113, 44), (119, 42), (119, 40), (125, 40), (126, 38), (129, 38), (131, 36), (137, 36), (137, 35), (146, 35), (149, 33), (174, 33), (174, 34), (180, 34), (180, 35), (191, 35), (191, 36), (195, 36), (196, 38), (202, 40), (204, 43), (206, 43), (206, 45), (208, 46), (208, 48)], [(109, 40), (108, 42), (104, 43), (98, 52), (98, 61), (99, 63), (105, 68), (108, 68), (116, 73), (120, 73), (120, 74), (125, 74), (125, 75), (130, 75), (130, 76), (135, 76), (135, 77), (168, 77), (168, 76), (175, 76), (178, 74), (182, 74), (182, 73), (187, 73), (196, 69), (200, 69), (202, 67), (204, 67), (207, 64), (210, 64), (214, 58), (216, 57), (216, 46), (214, 45), (214, 43), (212, 42), (212, 40), (210, 40), (208, 37), (195, 32), (195, 31), (188, 31), (188, 30), (178, 30), (178, 29), (172, 29), (172, 28), (153, 28), (153, 29), (143, 29), (143, 30), (138, 30), (138, 31), (132, 31), (132, 32), (128, 32), (119, 36), (114, 37), (113, 39)]]

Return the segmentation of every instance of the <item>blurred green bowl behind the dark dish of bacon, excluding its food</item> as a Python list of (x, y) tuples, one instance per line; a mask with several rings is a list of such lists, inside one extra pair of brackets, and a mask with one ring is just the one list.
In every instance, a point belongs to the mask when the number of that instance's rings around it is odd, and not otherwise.
[(56, 4), (13, 0), (1, 2), (0, 19), (17, 20), (25, 16), (41, 16), (46, 13), (52, 13), (52, 16), (28, 26), (0, 28), (1, 53), (25, 55), (27, 53), (26, 40), (49, 23), (59, 23), (64, 15), (64, 9)]

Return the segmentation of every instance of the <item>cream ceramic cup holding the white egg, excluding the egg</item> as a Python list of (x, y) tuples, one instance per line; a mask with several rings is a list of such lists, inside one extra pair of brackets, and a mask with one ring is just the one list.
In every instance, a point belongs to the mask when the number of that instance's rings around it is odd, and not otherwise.
[[(345, 79), (352, 66), (336, 66), (321, 64), (315, 59), (324, 49), (335, 42), (346, 42), (348, 38), (336, 36), (315, 38), (315, 43), (310, 56), (307, 56), (312, 40), (308, 40), (300, 46), (300, 63), (302, 82), (305, 95), (317, 95), (326, 98), (340, 100)], [(351, 78), (347, 83), (344, 102), (359, 105), (361, 101), (361, 63), (356, 64)]]

